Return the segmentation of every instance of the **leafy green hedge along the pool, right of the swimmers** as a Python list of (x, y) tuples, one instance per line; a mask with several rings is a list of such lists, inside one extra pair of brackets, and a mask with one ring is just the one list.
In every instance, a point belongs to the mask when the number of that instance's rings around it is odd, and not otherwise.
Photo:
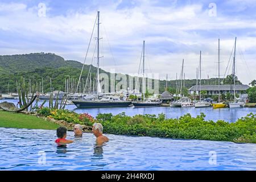
[[(108, 118), (108, 119), (106, 119)], [(135, 115), (125, 113), (97, 115), (104, 126), (104, 133), (138, 135), (177, 139), (201, 139), (229, 142), (256, 142), (256, 114), (248, 114), (236, 123), (205, 121), (205, 114), (196, 118), (185, 114), (178, 119), (167, 119), (164, 114)]]

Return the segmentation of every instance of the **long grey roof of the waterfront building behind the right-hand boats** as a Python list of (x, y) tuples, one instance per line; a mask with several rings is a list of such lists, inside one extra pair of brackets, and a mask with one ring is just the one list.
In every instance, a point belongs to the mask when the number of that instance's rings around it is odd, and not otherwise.
[[(231, 86), (230, 85), (220, 85), (220, 90), (224, 91), (224, 90), (230, 90)], [(235, 89), (236, 90), (247, 90), (249, 89), (250, 86), (248, 85), (236, 85)], [(232, 88), (233, 90), (233, 85)], [(188, 89), (188, 91), (198, 91), (199, 90), (199, 85), (197, 85), (197, 89), (196, 89), (196, 85), (192, 86), (191, 88)], [(201, 90), (205, 90), (205, 91), (218, 91), (218, 85), (201, 85)]]

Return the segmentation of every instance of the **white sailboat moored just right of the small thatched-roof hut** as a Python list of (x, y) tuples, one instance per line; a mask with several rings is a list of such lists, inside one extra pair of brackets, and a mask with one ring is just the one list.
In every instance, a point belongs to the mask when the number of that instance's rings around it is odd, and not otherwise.
[(179, 92), (178, 89), (180, 89), (180, 100), (171, 102), (170, 103), (171, 107), (193, 107), (193, 106), (195, 106), (190, 98), (182, 96), (183, 67), (184, 67), (184, 59), (182, 61), (180, 85), (177, 86), (177, 91), (176, 91), (176, 95), (177, 95), (177, 93)]

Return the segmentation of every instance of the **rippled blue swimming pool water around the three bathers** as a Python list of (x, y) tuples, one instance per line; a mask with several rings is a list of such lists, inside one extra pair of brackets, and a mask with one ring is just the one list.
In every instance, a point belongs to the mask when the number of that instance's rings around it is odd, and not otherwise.
[[(255, 170), (256, 144), (93, 134), (57, 147), (55, 130), (0, 128), (1, 170)], [(213, 155), (212, 155), (213, 154)], [(44, 158), (45, 156), (45, 158)], [(216, 156), (216, 158), (215, 158)], [(216, 160), (215, 160), (216, 159)], [(216, 162), (216, 163), (215, 163)]]

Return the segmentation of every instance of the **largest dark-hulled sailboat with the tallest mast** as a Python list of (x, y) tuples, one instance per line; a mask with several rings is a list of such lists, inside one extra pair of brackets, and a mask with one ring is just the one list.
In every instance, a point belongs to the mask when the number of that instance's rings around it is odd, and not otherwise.
[[(131, 101), (121, 100), (116, 97), (103, 97), (100, 99), (101, 85), (100, 85), (100, 74), (99, 74), (99, 63), (100, 63), (100, 11), (97, 13), (97, 98), (95, 100), (71, 100), (78, 108), (89, 108), (89, 107), (128, 107), (131, 105)], [(84, 68), (84, 67), (83, 67)], [(80, 76), (81, 77), (81, 76)]]

